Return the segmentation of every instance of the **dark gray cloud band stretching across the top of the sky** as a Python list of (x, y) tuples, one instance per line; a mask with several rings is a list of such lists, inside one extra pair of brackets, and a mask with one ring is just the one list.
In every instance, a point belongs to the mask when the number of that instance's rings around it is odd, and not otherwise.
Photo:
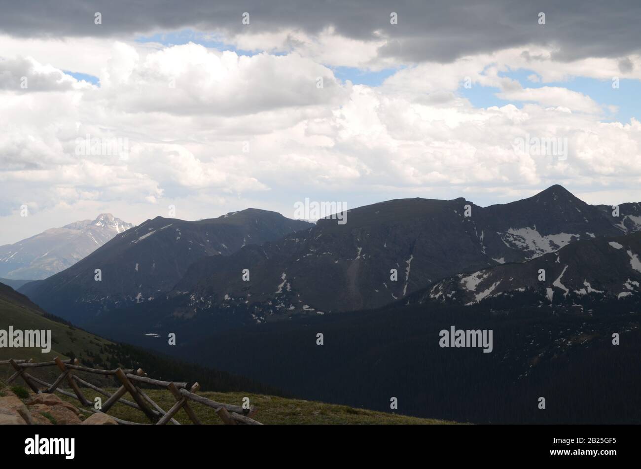
[[(182, 28), (237, 33), (283, 27), (316, 33), (326, 26), (351, 38), (374, 39), (386, 31), (395, 40), (381, 56), (408, 61), (449, 62), (524, 44), (556, 45), (557, 60), (624, 57), (641, 49), (641, 2), (579, 1), (322, 1), (0, 0), (0, 30), (21, 37), (112, 36)], [(103, 24), (94, 24), (101, 12)], [(249, 12), (251, 25), (242, 26)], [(397, 12), (399, 24), (390, 24)], [(545, 13), (545, 26), (537, 22)]]

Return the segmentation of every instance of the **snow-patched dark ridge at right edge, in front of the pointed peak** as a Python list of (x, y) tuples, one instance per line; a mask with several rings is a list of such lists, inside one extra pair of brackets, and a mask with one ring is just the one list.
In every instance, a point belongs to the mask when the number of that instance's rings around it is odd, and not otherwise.
[(505, 297), (515, 304), (589, 307), (641, 300), (641, 232), (572, 243), (524, 263), (459, 274), (408, 299), (474, 304)]

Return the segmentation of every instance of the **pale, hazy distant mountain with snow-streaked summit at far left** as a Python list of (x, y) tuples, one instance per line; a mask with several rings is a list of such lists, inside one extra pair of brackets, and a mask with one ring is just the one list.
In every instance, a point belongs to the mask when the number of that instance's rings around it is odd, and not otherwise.
[(102, 213), (96, 220), (47, 229), (31, 238), (0, 246), (0, 277), (45, 279), (71, 267), (132, 226), (111, 213)]

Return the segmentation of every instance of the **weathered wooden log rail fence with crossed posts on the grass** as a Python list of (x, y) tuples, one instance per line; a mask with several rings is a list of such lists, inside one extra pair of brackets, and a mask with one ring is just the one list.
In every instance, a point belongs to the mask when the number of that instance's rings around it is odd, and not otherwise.
[[(42, 363), (33, 363), (32, 359), (29, 360), (3, 360), (0, 361), (0, 365), (11, 365), (15, 371), (7, 380), (7, 383), (12, 383), (17, 378), (22, 378), (22, 380), (33, 390), (33, 392), (40, 393), (54, 393), (58, 392), (62, 395), (72, 397), (80, 401), (80, 404), (87, 409), (80, 409), (83, 413), (108, 413), (109, 409), (113, 407), (117, 402), (124, 404), (125, 406), (133, 407), (142, 411), (144, 415), (151, 421), (154, 425), (165, 425), (168, 422), (172, 422), (174, 425), (180, 425), (180, 423), (174, 419), (174, 416), (180, 409), (185, 409), (185, 412), (189, 418), (196, 425), (201, 425), (202, 422), (194, 413), (190, 403), (197, 402), (198, 404), (203, 404), (204, 406), (209, 406), (215, 409), (216, 414), (221, 418), (222, 422), (227, 425), (262, 425), (260, 422), (256, 422), (252, 416), (255, 415), (256, 409), (254, 406), (250, 406), (249, 409), (244, 409), (242, 406), (234, 406), (232, 404), (223, 404), (222, 402), (215, 402), (215, 400), (207, 399), (204, 396), (197, 395), (197, 391), (200, 388), (198, 383), (195, 383), (189, 389), (187, 389), (188, 383), (174, 383), (173, 381), (160, 381), (158, 379), (152, 379), (147, 377), (145, 372), (138, 368), (138, 370), (122, 370), (117, 368), (116, 370), (99, 370), (97, 368), (88, 368), (87, 366), (82, 366), (79, 364), (78, 359), (73, 360), (61, 360), (56, 357), (53, 361), (43, 361)], [(38, 379), (32, 374), (28, 373), (28, 370), (31, 368), (42, 368), (44, 366), (56, 366), (60, 369), (60, 376), (53, 383), (46, 383), (42, 379)], [(107, 391), (95, 386), (94, 384), (85, 381), (78, 375), (74, 374), (74, 371), (81, 371), (89, 374), (103, 375), (105, 377), (115, 376), (118, 381), (121, 383), (121, 387), (111, 394)], [(63, 381), (67, 381), (71, 391), (63, 390), (60, 388), (60, 385)], [(156, 402), (154, 402), (149, 395), (147, 395), (140, 384), (151, 384), (153, 386), (159, 386), (168, 390), (176, 403), (168, 411), (164, 411)], [(37, 385), (42, 386), (39, 388)], [(91, 402), (87, 400), (85, 395), (83, 395), (80, 385), (85, 388), (92, 389), (97, 393), (102, 394), (107, 398), (106, 402), (103, 403), (100, 409), (94, 409), (94, 406)], [(129, 393), (133, 398), (131, 400), (124, 399), (124, 395)], [(138, 424), (136, 422), (129, 422), (128, 420), (122, 420), (116, 418), (113, 415), (110, 415), (116, 422), (121, 425), (146, 425)]]

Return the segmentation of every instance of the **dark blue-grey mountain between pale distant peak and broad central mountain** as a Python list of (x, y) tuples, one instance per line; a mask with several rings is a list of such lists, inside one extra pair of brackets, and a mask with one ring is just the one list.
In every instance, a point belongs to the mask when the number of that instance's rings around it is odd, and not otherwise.
[(99, 313), (153, 300), (201, 258), (228, 256), (309, 226), (256, 209), (196, 222), (156, 217), (118, 234), (71, 268), (20, 290), (51, 313), (82, 324)]

